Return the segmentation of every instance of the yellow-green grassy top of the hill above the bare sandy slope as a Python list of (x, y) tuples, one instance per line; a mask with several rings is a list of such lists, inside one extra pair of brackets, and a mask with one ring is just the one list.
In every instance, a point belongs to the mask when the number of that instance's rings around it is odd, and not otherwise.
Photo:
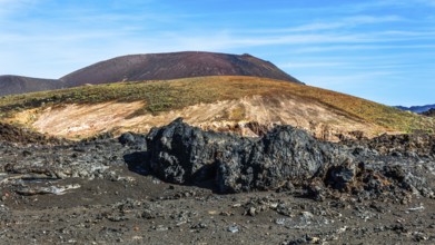
[[(434, 119), (376, 104), (357, 97), (298, 85), (255, 77), (199, 77), (165, 81), (118, 82), (87, 86), (63, 90), (33, 92), (0, 98), (0, 117), (7, 118), (17, 111), (68, 104), (98, 104), (108, 101), (142, 101), (144, 107), (129, 115), (158, 115), (182, 109), (197, 104), (211, 104), (261, 96), (276, 100), (291, 97), (301, 105), (317, 102), (334, 112), (382, 126), (388, 130), (409, 133), (434, 130)], [(231, 111), (233, 117), (243, 117), (243, 110)]]

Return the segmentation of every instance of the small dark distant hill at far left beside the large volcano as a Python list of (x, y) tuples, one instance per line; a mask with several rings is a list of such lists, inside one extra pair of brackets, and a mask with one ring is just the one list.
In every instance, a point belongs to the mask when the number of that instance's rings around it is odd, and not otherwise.
[(0, 96), (52, 90), (62, 87), (65, 87), (63, 82), (56, 79), (29, 78), (11, 75), (0, 76)]

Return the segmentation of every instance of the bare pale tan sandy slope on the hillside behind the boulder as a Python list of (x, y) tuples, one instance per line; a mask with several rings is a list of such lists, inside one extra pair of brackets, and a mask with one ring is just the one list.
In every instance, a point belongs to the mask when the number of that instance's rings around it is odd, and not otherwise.
[(251, 127), (246, 126), (249, 122), (263, 128), (293, 125), (328, 140), (336, 140), (339, 134), (349, 135), (357, 130), (366, 136), (385, 130), (315, 101), (301, 104), (290, 96), (273, 99), (254, 96), (132, 117), (144, 105), (142, 101), (136, 101), (48, 107), (39, 111), (20, 112), (16, 120), (30, 124), (40, 133), (67, 138), (89, 137), (109, 130), (147, 133), (151, 127), (167, 125), (177, 117), (184, 117), (188, 124), (202, 129), (235, 130), (248, 136), (255, 135)]

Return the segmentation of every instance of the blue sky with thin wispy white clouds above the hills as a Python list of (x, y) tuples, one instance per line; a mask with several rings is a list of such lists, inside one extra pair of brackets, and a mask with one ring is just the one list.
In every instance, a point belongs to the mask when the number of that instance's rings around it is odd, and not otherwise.
[(435, 104), (435, 0), (0, 0), (0, 75), (184, 50), (250, 53), (386, 105)]

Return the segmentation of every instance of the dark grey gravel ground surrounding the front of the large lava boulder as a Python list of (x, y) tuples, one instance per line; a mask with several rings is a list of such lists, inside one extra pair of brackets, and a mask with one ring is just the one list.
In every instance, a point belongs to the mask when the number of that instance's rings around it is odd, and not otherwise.
[[(218, 194), (144, 175), (140, 144), (0, 143), (1, 244), (434, 244), (433, 194)], [(435, 188), (431, 157), (370, 155)], [(416, 180), (415, 180), (416, 182)]]

